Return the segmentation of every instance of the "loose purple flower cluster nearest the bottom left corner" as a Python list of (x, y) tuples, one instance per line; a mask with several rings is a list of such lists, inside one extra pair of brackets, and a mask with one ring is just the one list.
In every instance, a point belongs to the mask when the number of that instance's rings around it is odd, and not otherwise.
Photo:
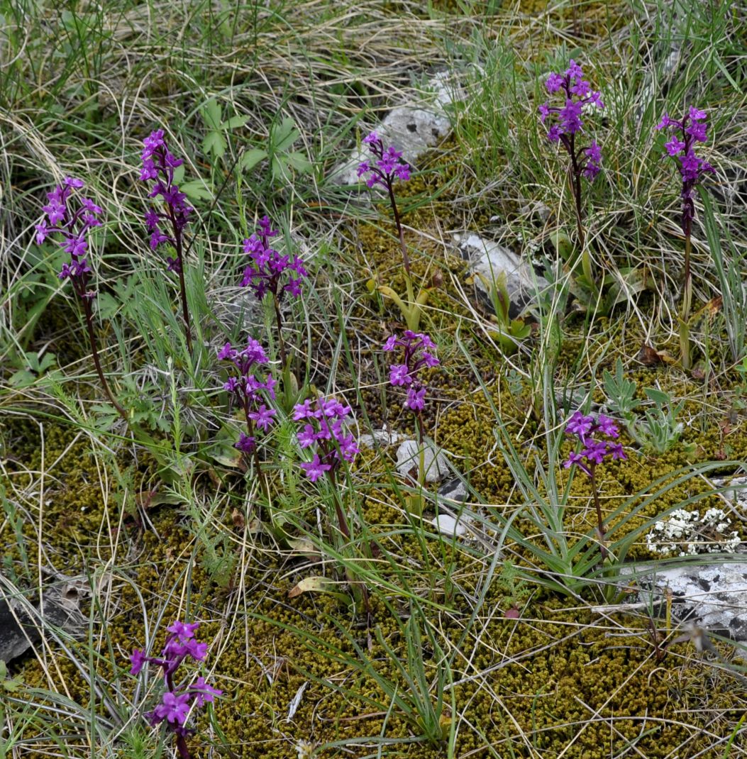
[(169, 635), (160, 657), (149, 657), (143, 650), (137, 648), (130, 657), (132, 664), (130, 672), (133, 675), (137, 675), (146, 662), (156, 664), (163, 670), (166, 690), (158, 706), (153, 711), (145, 713), (144, 716), (151, 725), (157, 725), (165, 720), (169, 730), (178, 735), (182, 741), (189, 734), (184, 724), (191, 707), (203, 707), (223, 692), (218, 688), (213, 688), (202, 676), (186, 688), (174, 682), (175, 672), (185, 659), (201, 662), (207, 656), (207, 644), (199, 643), (194, 638), (194, 633), (199, 627), (199, 622), (191, 624), (174, 622), (166, 628)]

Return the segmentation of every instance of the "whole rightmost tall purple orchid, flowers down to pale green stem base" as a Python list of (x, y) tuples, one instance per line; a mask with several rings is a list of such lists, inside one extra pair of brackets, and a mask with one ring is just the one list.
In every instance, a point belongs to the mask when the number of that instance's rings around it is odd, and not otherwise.
[(679, 175), (682, 177), (682, 233), (685, 235), (685, 284), (682, 288), (682, 311), (679, 320), (679, 342), (682, 352), (682, 367), (690, 368), (690, 331), (687, 320), (692, 304), (692, 276), (690, 273), (690, 252), (692, 249), (692, 219), (695, 216), (695, 203), (692, 191), (706, 174), (715, 174), (716, 170), (708, 161), (695, 155), (695, 143), (705, 142), (707, 114), (693, 106), (679, 121), (665, 113), (656, 125), (657, 130), (666, 130), (670, 141), (664, 144), (667, 155), (679, 161)]

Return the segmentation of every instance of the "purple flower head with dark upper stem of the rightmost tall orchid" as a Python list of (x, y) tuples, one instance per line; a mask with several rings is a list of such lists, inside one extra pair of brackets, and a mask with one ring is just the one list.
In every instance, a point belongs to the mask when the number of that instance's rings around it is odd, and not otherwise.
[(679, 174), (682, 176), (682, 231), (689, 235), (692, 219), (695, 216), (695, 203), (692, 200), (692, 189), (698, 184), (704, 174), (715, 174), (716, 170), (708, 161), (699, 159), (693, 149), (695, 143), (705, 142), (707, 127), (706, 113), (690, 106), (689, 111), (681, 121), (665, 113), (656, 128), (666, 129), (671, 139), (664, 144), (667, 153), (679, 159)]

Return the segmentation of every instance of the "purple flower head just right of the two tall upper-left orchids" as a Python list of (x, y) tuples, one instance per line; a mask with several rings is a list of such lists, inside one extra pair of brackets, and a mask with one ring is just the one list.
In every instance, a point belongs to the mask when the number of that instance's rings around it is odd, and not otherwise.
[[(271, 222), (264, 216), (260, 219), (257, 232), (244, 240), (244, 253), (251, 256), (252, 263), (244, 269), (241, 287), (250, 287), (260, 300), (267, 292), (271, 292), (278, 301), (282, 300), (285, 292), (298, 298), (301, 294), (301, 279), (308, 276), (304, 262), (298, 256), (291, 260), (289, 255), (282, 256), (270, 247), (270, 238), (277, 234), (278, 231), (272, 228)], [(281, 286), (284, 272), (288, 272), (288, 281)], [(291, 272), (297, 276), (292, 276)]]

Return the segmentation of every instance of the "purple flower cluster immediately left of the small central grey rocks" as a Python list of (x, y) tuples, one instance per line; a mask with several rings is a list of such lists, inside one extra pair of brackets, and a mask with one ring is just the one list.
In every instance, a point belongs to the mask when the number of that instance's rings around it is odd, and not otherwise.
[(341, 461), (349, 463), (355, 459), (358, 445), (346, 427), (350, 412), (350, 406), (342, 405), (334, 398), (307, 399), (293, 409), (293, 420), (306, 422), (298, 433), (299, 445), (301, 448), (317, 446), (314, 458), (301, 464), (312, 482), (325, 472), (333, 473)]

